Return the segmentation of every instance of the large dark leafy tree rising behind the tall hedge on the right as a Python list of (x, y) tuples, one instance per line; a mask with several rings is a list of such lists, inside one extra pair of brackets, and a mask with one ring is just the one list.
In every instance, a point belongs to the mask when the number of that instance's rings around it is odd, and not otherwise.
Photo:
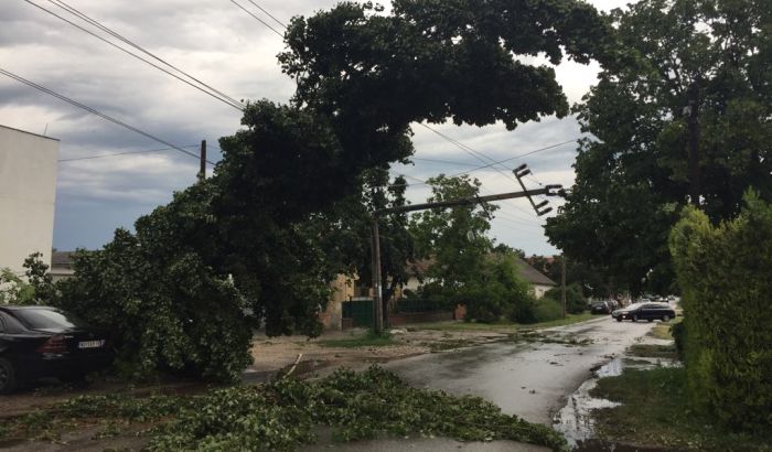
[(576, 107), (576, 184), (550, 243), (616, 287), (665, 293), (667, 234), (687, 203), (731, 218), (772, 200), (772, 21), (761, 0), (653, 0), (612, 13), (634, 64), (607, 65)]

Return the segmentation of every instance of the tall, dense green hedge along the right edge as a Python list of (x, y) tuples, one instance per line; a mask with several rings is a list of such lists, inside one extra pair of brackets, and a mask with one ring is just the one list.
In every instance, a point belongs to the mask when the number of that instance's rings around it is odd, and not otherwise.
[(687, 208), (671, 233), (693, 399), (726, 424), (772, 426), (772, 206), (749, 193), (712, 226)]

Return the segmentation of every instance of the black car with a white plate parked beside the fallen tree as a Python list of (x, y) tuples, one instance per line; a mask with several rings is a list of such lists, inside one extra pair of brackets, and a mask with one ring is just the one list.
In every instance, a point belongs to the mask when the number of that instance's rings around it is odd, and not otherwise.
[(44, 377), (82, 379), (111, 358), (107, 334), (65, 311), (0, 305), (0, 394)]

